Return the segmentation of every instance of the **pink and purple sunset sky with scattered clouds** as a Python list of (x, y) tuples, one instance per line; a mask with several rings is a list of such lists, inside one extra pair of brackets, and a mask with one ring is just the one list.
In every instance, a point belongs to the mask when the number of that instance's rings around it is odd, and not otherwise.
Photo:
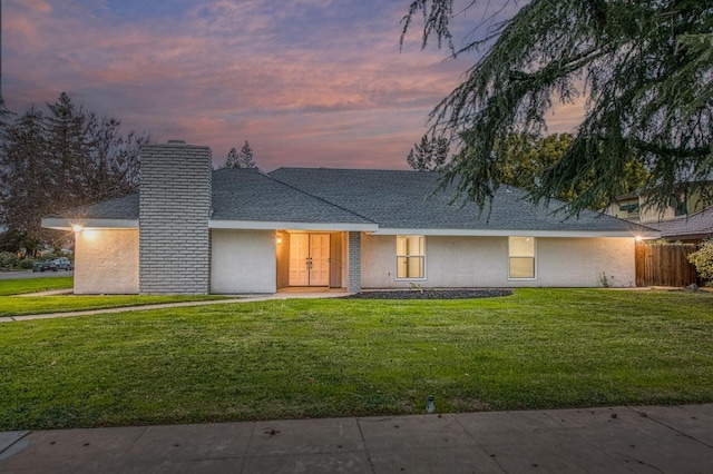
[[(248, 140), (265, 171), (404, 169), (428, 112), (476, 60), (422, 51), (421, 23), (400, 51), (409, 3), (2, 0), (2, 93), (22, 112), (66, 91), (125, 131), (209, 146), (216, 165)], [(456, 38), (482, 16), (457, 17)], [(558, 109), (550, 131), (576, 113)]]

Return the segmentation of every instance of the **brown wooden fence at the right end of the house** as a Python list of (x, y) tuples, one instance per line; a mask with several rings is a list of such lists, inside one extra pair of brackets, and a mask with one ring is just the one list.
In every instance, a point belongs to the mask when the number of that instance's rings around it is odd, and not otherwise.
[(695, 244), (648, 245), (636, 243), (636, 286), (684, 287), (697, 283), (687, 255)]

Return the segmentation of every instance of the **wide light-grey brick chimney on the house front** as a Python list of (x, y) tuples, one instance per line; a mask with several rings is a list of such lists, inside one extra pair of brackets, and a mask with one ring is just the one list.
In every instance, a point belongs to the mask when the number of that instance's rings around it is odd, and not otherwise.
[(208, 147), (183, 140), (141, 147), (140, 294), (209, 292), (212, 176)]

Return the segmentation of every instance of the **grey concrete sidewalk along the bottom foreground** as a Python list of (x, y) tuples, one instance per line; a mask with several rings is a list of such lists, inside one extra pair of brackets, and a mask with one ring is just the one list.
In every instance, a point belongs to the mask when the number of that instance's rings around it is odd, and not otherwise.
[(713, 404), (0, 433), (2, 473), (712, 473)]

